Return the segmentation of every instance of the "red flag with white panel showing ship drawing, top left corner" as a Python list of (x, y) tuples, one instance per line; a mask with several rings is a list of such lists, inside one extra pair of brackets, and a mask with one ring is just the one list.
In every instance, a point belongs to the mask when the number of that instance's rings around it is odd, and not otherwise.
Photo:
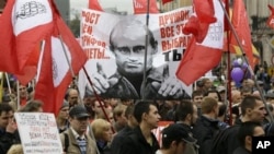
[(0, 70), (16, 74), (22, 84), (33, 79), (37, 66), (33, 52), (52, 32), (52, 21), (48, 0), (9, 0), (0, 17)]

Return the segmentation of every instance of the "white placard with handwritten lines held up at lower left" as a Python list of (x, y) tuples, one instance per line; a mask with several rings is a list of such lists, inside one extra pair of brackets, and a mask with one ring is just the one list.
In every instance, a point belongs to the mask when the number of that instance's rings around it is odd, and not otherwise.
[(62, 146), (53, 114), (15, 112), (24, 154), (61, 154)]

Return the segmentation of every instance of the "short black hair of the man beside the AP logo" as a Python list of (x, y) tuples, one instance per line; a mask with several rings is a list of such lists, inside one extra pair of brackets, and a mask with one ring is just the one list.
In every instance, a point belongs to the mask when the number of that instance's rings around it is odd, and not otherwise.
[(256, 127), (262, 127), (262, 126), (259, 122), (254, 122), (254, 121), (247, 121), (240, 125), (240, 128), (238, 131), (238, 140), (241, 146), (244, 146), (247, 135), (253, 137), (254, 129)]

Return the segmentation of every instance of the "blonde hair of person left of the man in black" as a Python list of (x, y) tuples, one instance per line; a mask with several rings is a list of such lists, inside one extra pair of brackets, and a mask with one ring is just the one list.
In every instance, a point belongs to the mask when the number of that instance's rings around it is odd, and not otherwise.
[(101, 139), (103, 132), (111, 129), (111, 123), (104, 119), (95, 119), (91, 122), (91, 128), (95, 139)]

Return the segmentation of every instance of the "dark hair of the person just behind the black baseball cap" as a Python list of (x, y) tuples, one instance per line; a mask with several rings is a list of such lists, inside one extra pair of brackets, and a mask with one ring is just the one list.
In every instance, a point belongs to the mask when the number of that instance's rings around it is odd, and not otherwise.
[(185, 120), (189, 114), (193, 114), (193, 104), (190, 100), (182, 100), (175, 110), (175, 120)]

